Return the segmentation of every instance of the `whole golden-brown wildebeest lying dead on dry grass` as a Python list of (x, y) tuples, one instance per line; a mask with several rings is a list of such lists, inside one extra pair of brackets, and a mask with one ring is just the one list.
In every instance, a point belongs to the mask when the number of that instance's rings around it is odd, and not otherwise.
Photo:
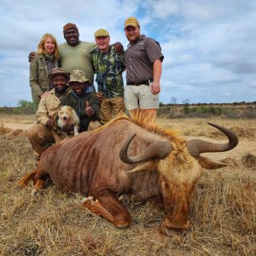
[(161, 230), (170, 235), (172, 230), (189, 228), (189, 201), (201, 166), (227, 166), (201, 153), (228, 151), (238, 143), (232, 131), (210, 125), (224, 132), (229, 142), (186, 141), (172, 129), (122, 116), (45, 150), (37, 170), (23, 177), (20, 185), (33, 179), (35, 193), (49, 176), (58, 188), (87, 196), (84, 207), (119, 228), (128, 226), (131, 217), (117, 195), (131, 194), (137, 201), (161, 195), (166, 209)]

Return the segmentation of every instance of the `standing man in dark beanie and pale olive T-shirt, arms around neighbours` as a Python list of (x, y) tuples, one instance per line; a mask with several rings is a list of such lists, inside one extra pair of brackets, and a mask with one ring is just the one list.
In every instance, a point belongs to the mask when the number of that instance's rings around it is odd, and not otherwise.
[[(92, 90), (96, 91), (93, 85), (94, 72), (91, 59), (91, 53), (96, 49), (96, 44), (80, 41), (79, 29), (73, 23), (67, 23), (63, 26), (63, 36), (67, 42), (59, 46), (59, 66), (67, 70), (67, 72), (72, 72), (76, 69), (82, 70), (86, 78), (90, 79)], [(117, 52), (123, 53), (122, 44), (118, 42), (113, 45)], [(29, 61), (32, 61), (33, 55), (34, 52), (29, 55)]]

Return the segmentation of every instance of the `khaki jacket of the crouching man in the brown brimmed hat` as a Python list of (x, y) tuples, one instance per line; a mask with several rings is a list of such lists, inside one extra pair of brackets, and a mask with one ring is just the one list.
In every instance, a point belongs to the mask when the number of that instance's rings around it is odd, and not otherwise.
[[(69, 93), (66, 90), (63, 96)], [(63, 97), (61, 96), (61, 98)], [(41, 99), (38, 105), (38, 112), (36, 113), (38, 123), (46, 125), (49, 117), (56, 118), (57, 110), (60, 108), (61, 99), (55, 95), (55, 89), (49, 91), (49, 95)]]

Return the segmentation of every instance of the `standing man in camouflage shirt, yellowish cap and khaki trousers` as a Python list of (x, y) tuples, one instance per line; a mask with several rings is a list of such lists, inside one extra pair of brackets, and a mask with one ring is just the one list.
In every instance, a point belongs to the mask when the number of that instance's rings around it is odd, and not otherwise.
[(125, 112), (124, 82), (122, 73), (125, 70), (124, 55), (118, 55), (113, 45), (109, 45), (109, 33), (105, 29), (95, 32), (98, 46), (92, 52), (92, 61), (98, 84), (98, 96), (102, 97), (101, 120), (106, 124), (113, 113)]

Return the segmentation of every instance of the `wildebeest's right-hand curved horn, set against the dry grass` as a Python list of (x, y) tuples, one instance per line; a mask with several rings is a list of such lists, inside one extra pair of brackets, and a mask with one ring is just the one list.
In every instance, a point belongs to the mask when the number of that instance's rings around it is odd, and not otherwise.
[(212, 123), (208, 123), (208, 125), (212, 125), (219, 131), (222, 131), (229, 138), (229, 143), (210, 143), (199, 139), (189, 140), (187, 142), (187, 147), (189, 149), (189, 153), (193, 157), (198, 158), (201, 153), (206, 152), (229, 151), (236, 147), (238, 144), (238, 137), (236, 137), (236, 134), (233, 131), (230, 131), (229, 129), (220, 125), (214, 125)]

